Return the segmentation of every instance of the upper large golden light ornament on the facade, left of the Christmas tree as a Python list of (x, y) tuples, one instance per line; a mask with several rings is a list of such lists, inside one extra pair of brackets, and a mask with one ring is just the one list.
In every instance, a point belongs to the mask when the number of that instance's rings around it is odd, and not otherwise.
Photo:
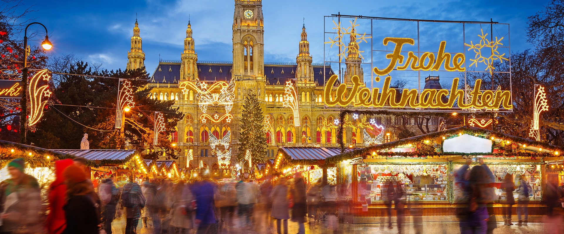
[[(186, 81), (180, 83), (179, 88), (184, 94), (190, 93), (190, 89), (196, 91), (198, 106), (203, 113), (200, 115), (202, 123), (206, 123), (206, 120), (210, 120), (213, 123), (219, 123), (225, 120), (225, 122), (231, 123), (233, 115), (231, 115), (230, 112), (231, 109), (233, 109), (233, 100), (235, 100), (235, 82), (230, 81), (227, 83), (218, 81), (208, 84), (200, 81)], [(208, 107), (215, 105), (223, 106), (225, 108), (225, 114), (221, 116), (218, 114), (214, 116), (206, 114)]]

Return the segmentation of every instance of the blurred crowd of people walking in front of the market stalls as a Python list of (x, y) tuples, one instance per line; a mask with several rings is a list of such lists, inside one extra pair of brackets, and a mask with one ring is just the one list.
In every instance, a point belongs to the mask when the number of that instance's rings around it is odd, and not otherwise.
[[(456, 206), (462, 234), (493, 233), (497, 227), (493, 215), (493, 174), (481, 161), (470, 169), (472, 161), (455, 172), (455, 183), (464, 188), (466, 200)], [(136, 181), (129, 176), (118, 182), (114, 174), (95, 188), (82, 158), (55, 161), (55, 179), (47, 192), (48, 212), (37, 179), (24, 173), (23, 159), (7, 164), (11, 178), (0, 183), (0, 233), (94, 234), (112, 233), (112, 222), (125, 219), (125, 233), (137, 233), (139, 225), (155, 234), (221, 233), (233, 226), (274, 228), (288, 234), (288, 221), (297, 223), (297, 234), (305, 234), (307, 217), (324, 221), (328, 230), (340, 232), (339, 217), (351, 211), (346, 185), (330, 185), (320, 179), (307, 186), (301, 174), (290, 180), (267, 178), (260, 185), (251, 179), (214, 182), (208, 173), (197, 173), (191, 181), (173, 183), (166, 179)], [(513, 225), (513, 191), (517, 193), (517, 225), (528, 223), (529, 190), (525, 179), (508, 174), (501, 186), (508, 197), (503, 202), (505, 225)], [(403, 234), (407, 213), (416, 234), (423, 231), (422, 205), (406, 201), (406, 188), (389, 182), (382, 188), (385, 210), (384, 228), (393, 228), (395, 210), (398, 233)], [(564, 190), (557, 181), (548, 181), (543, 203), (548, 207), (547, 223), (554, 233), (562, 221)], [(557, 209), (560, 208), (560, 209)], [(45, 215), (46, 214), (46, 215)], [(274, 221), (276, 221), (274, 223)], [(142, 222), (141, 224), (139, 222)], [(267, 230), (274, 233), (274, 230)], [(120, 233), (121, 234), (121, 233)]]

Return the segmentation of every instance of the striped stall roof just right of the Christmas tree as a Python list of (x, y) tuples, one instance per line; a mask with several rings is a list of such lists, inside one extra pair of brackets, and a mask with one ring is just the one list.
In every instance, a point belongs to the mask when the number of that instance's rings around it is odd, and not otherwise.
[[(341, 154), (340, 147), (300, 147), (288, 146), (280, 147), (284, 154), (290, 156), (292, 160), (324, 160), (331, 156)], [(346, 148), (345, 152), (353, 149)]]

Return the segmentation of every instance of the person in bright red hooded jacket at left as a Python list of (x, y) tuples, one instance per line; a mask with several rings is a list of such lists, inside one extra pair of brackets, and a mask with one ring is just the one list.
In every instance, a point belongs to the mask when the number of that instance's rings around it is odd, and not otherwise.
[(49, 234), (60, 234), (65, 230), (65, 211), (63, 206), (67, 204), (67, 185), (63, 171), (73, 164), (72, 159), (55, 161), (55, 181), (49, 187), (49, 216), (47, 216), (47, 231)]

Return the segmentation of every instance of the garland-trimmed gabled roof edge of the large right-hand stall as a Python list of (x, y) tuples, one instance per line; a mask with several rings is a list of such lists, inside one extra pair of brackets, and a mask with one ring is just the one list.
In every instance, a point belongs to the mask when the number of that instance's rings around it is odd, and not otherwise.
[(490, 136), (493, 136), (493, 137), (496, 137), (496, 138), (512, 139), (513, 142), (519, 142), (519, 143), (526, 144), (527, 150), (534, 150), (533, 146), (536, 146), (537, 147), (536, 149), (538, 149), (538, 147), (543, 147), (543, 149), (547, 149), (549, 151), (562, 150), (562, 147), (550, 145), (549, 143), (545, 143), (545, 142), (534, 141), (534, 140), (530, 140), (530, 139), (522, 138), (522, 137), (516, 137), (516, 136), (509, 135), (509, 134), (495, 132), (495, 131), (491, 131), (491, 130), (483, 129), (483, 128), (477, 128), (477, 127), (471, 127), (471, 126), (462, 126), (462, 127), (451, 128), (451, 129), (447, 129), (447, 130), (443, 130), (443, 131), (439, 131), (439, 132), (422, 134), (422, 135), (415, 136), (415, 137), (409, 137), (409, 138), (405, 138), (405, 139), (402, 139), (402, 140), (391, 141), (391, 142), (383, 143), (383, 144), (380, 144), (380, 145), (364, 147), (362, 149), (345, 151), (342, 154), (336, 154), (336, 155), (328, 156), (328, 159), (334, 160), (335, 158), (341, 158), (341, 159), (354, 158), (358, 155), (370, 154), (372, 151), (390, 149), (390, 148), (394, 148), (394, 147), (397, 147), (397, 146), (406, 145), (408, 142), (423, 140), (423, 139), (429, 138), (429, 137), (431, 137), (431, 138), (432, 137), (441, 137), (441, 136), (444, 136), (445, 134), (456, 134), (456, 133), (459, 133), (461, 131), (482, 132), (482, 133), (488, 133), (488, 134), (490, 134)]

